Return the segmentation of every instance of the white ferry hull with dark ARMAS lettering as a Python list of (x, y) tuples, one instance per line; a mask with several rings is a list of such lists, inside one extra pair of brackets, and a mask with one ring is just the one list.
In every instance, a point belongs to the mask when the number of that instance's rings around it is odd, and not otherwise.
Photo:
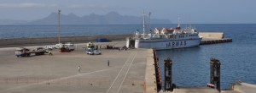
[(154, 48), (156, 50), (197, 47), (200, 45), (201, 38), (183, 40), (135, 40), (135, 48)]

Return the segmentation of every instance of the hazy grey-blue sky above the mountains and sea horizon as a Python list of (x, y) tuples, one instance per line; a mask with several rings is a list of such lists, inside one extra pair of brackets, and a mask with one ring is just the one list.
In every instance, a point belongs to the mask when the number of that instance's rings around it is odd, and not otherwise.
[(0, 19), (42, 19), (61, 8), (61, 14), (107, 14), (170, 19), (177, 23), (256, 23), (256, 0), (1, 0)]

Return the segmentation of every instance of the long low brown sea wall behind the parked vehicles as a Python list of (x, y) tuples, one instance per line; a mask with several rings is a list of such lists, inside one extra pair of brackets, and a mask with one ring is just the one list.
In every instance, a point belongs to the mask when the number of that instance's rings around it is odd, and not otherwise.
[[(108, 35), (108, 36), (65, 36), (61, 37), (61, 42), (89, 42), (96, 41), (97, 38), (106, 38), (109, 41), (125, 41), (125, 37), (132, 35)], [(20, 45), (43, 45), (56, 44), (58, 37), (45, 38), (17, 38), (17, 39), (0, 39), (0, 47), (20, 46)]]

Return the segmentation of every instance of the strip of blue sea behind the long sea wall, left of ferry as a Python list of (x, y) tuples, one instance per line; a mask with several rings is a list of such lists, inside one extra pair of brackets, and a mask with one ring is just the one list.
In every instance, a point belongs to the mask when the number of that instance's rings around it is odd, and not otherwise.
[[(61, 25), (61, 36), (131, 34), (140, 25)], [(58, 25), (0, 25), (0, 39), (56, 37)]]

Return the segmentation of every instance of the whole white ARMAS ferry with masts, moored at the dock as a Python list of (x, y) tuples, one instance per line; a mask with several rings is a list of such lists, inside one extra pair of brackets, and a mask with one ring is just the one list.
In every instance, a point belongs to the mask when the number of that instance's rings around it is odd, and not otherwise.
[[(150, 27), (150, 23), (148, 25)], [(135, 36), (126, 38), (126, 47), (154, 48), (156, 50), (197, 47), (202, 39), (198, 34), (191, 26), (181, 28), (179, 18), (175, 28), (155, 28), (154, 33), (150, 30), (149, 34), (145, 34), (145, 14), (143, 13), (143, 33), (140, 34), (137, 30)]]

